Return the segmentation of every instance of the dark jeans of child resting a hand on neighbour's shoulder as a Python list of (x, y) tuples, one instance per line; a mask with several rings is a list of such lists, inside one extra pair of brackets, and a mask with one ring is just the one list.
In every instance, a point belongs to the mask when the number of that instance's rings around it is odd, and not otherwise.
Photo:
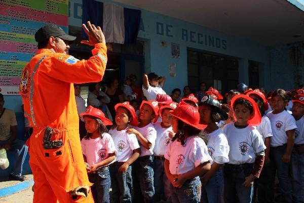
[(139, 157), (133, 163), (133, 197), (134, 202), (154, 202), (153, 156)]

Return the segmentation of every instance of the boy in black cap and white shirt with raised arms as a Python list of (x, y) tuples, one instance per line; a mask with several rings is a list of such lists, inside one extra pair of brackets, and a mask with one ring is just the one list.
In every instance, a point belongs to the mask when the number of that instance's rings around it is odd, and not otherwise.
[(157, 94), (166, 94), (163, 90), (166, 78), (158, 76), (155, 73), (149, 73), (142, 77), (142, 92), (147, 100), (156, 100)]

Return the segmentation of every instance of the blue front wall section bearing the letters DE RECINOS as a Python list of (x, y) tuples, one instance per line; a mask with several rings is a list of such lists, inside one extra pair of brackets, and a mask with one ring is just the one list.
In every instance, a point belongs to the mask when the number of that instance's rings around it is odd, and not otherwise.
[[(112, 1), (102, 1), (133, 8)], [(82, 23), (82, 1), (70, 0), (69, 24), (80, 26)], [(263, 65), (261, 76), (269, 69), (269, 48), (256, 43), (229, 36), (225, 33), (208, 29), (193, 23), (171, 18), (146, 10), (142, 11), (142, 20), (138, 37), (146, 40), (149, 50), (145, 52), (146, 72), (156, 72), (166, 76), (167, 81), (164, 89), (167, 93), (175, 87), (183, 88), (187, 84), (187, 47), (204, 50), (240, 59), (239, 79), (240, 82), (248, 84), (248, 60), (261, 62)], [(166, 46), (161, 46), (161, 41)], [(171, 43), (179, 44), (180, 58), (171, 56)], [(176, 64), (176, 76), (169, 75), (169, 65)], [(263, 77), (261, 77), (263, 78)], [(262, 86), (268, 84), (261, 80)]]

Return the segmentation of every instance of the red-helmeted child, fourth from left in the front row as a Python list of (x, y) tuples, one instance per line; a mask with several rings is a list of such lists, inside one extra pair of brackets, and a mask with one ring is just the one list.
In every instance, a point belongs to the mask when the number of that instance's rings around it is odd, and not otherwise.
[(164, 155), (167, 151), (167, 146), (170, 142), (170, 134), (173, 133), (171, 126), (172, 115), (171, 110), (177, 107), (177, 103), (171, 102), (165, 104), (160, 108), (161, 122), (154, 124), (157, 131), (157, 138), (155, 141), (154, 153), (154, 188), (155, 188), (155, 202), (166, 201), (170, 197), (170, 181), (167, 179), (164, 171)]

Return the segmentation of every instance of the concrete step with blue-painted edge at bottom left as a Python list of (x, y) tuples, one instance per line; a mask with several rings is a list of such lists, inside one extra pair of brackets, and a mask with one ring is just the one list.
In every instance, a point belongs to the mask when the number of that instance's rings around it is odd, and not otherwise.
[(23, 182), (9, 179), (0, 180), (0, 198), (31, 188), (34, 184), (33, 175), (25, 175)]

